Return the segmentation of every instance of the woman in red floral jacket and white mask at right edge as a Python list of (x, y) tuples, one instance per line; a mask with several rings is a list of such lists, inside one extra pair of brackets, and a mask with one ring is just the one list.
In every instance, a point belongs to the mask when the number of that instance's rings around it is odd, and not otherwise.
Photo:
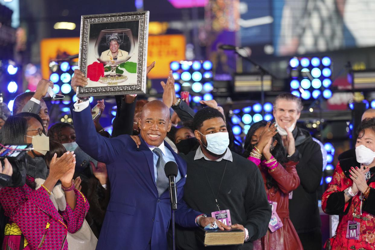
[[(338, 163), (322, 197), (323, 211), (340, 216), (335, 237), (327, 241), (326, 249), (375, 249), (375, 118), (363, 120), (357, 132), (354, 164), (344, 167), (344, 162)], [(348, 177), (344, 174), (347, 168)]]

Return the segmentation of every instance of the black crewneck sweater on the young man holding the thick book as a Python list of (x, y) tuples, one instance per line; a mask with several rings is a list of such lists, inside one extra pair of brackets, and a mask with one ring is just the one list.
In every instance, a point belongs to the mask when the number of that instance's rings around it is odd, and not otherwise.
[[(194, 160), (196, 151), (186, 156), (180, 154), (187, 163), (187, 178), (184, 185), (184, 201), (196, 211), (211, 216), (217, 211), (214, 195), (226, 165), (226, 171), (220, 186), (217, 201), (220, 210), (230, 210), (232, 225), (238, 223), (249, 231), (250, 241), (243, 246), (214, 247), (214, 249), (252, 249), (252, 241), (263, 237), (268, 229), (271, 209), (267, 201), (264, 183), (258, 167), (248, 159), (232, 152), (233, 162), (221, 160), (209, 161), (201, 158)], [(207, 172), (209, 183), (207, 181)], [(176, 242), (178, 249), (207, 249), (196, 241), (196, 229), (178, 227)]]

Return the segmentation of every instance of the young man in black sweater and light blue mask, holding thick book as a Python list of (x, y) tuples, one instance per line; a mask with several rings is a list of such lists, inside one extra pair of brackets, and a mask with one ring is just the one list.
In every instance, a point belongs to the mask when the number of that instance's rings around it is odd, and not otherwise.
[[(231, 224), (244, 231), (243, 246), (214, 249), (252, 249), (252, 241), (263, 237), (268, 229), (271, 209), (261, 173), (248, 159), (228, 148), (228, 131), (223, 115), (214, 108), (198, 111), (193, 120), (200, 147), (186, 156), (187, 178), (184, 200), (189, 207), (208, 216), (229, 210)], [(178, 228), (177, 249), (205, 249), (195, 237), (195, 229)]]

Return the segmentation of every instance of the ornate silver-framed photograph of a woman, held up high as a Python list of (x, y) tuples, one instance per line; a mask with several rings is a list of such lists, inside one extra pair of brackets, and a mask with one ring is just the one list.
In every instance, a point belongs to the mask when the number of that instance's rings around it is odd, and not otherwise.
[(148, 11), (81, 17), (80, 70), (88, 78), (77, 96), (144, 94)]

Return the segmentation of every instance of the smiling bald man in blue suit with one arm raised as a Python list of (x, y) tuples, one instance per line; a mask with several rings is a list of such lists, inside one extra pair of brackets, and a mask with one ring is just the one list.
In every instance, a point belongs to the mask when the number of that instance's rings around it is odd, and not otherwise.
[[(171, 129), (169, 109), (151, 101), (142, 109), (137, 148), (128, 135), (105, 138), (96, 133), (89, 101), (78, 99), (72, 110), (77, 144), (94, 159), (107, 164), (111, 198), (97, 249), (167, 249), (171, 220), (169, 183), (164, 173), (168, 161), (177, 163), (178, 210), (175, 221), (183, 227), (206, 226), (215, 221), (187, 207), (183, 201), (186, 163), (164, 141)], [(199, 195), (197, 193), (196, 195)], [(229, 229), (216, 220), (220, 229)]]

